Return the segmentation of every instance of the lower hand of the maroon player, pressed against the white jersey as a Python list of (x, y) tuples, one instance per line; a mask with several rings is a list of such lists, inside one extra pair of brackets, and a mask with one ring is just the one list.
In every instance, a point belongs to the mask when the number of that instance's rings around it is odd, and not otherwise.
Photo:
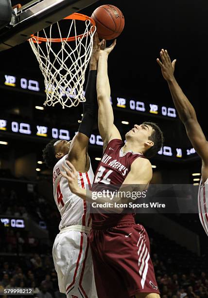
[(70, 169), (62, 165), (66, 172), (61, 171), (61, 175), (68, 180), (70, 191), (76, 193), (79, 189), (77, 171), (68, 160), (66, 160), (66, 163)]

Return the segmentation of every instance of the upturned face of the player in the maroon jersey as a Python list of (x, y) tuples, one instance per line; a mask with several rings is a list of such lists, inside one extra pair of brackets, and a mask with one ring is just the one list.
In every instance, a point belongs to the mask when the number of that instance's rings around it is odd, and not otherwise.
[(135, 124), (132, 130), (126, 133), (126, 137), (132, 137), (142, 142), (146, 142), (152, 135), (153, 128), (147, 124)]

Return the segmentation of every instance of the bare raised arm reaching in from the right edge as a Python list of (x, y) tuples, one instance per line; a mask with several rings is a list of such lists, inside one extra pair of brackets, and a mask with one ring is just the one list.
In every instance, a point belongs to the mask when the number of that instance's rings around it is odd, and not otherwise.
[(161, 67), (164, 79), (168, 82), (175, 108), (185, 125), (193, 148), (202, 159), (202, 180), (205, 182), (208, 178), (208, 141), (198, 123), (193, 106), (174, 78), (173, 73), (176, 60), (171, 62), (167, 50), (164, 51), (163, 49), (160, 52), (160, 57), (162, 62), (157, 58), (157, 63)]

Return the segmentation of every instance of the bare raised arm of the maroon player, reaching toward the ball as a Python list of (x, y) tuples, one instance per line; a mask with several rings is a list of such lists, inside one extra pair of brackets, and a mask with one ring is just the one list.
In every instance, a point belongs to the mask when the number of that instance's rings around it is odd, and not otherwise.
[(110, 103), (110, 84), (107, 74), (107, 59), (109, 53), (116, 45), (113, 44), (100, 51), (97, 74), (97, 97), (98, 97), (98, 127), (104, 142), (104, 149), (111, 139), (121, 139), (119, 130), (114, 125), (113, 109)]

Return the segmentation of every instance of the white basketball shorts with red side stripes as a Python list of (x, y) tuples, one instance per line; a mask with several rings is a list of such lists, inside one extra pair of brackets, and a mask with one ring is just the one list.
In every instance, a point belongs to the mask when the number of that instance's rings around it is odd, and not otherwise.
[(59, 291), (67, 298), (97, 298), (88, 235), (66, 231), (56, 236), (52, 248)]

